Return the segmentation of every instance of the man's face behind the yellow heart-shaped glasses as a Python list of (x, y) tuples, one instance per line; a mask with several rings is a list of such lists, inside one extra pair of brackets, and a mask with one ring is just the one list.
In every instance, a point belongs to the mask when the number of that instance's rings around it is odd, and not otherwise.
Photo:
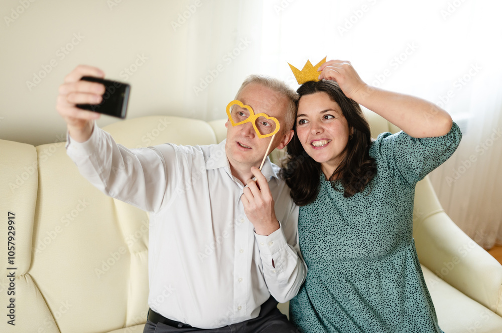
[[(252, 83), (244, 87), (236, 99), (252, 107), (255, 114), (265, 113), (279, 121), (281, 128), (274, 137), (269, 153), (276, 147), (283, 148), (287, 98), (260, 84)], [(227, 120), (225, 126), (227, 128), (225, 150), (230, 165), (235, 168), (260, 166), (272, 137), (259, 138), (251, 122), (232, 126)]]

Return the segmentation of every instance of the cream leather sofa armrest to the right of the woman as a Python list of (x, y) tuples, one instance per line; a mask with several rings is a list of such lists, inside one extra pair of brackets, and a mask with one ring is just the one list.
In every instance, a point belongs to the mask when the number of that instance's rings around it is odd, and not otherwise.
[(437, 279), (502, 315), (502, 265), (448, 217), (428, 178), (415, 191), (413, 234), (420, 262)]

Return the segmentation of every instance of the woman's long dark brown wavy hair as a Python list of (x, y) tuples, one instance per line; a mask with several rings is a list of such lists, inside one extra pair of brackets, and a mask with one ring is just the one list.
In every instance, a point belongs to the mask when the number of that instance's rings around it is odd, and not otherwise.
[[(300, 99), (304, 95), (324, 92), (340, 106), (349, 129), (353, 128), (353, 135), (342, 152), (344, 158), (329, 180), (334, 189), (334, 181), (341, 181), (344, 197), (362, 192), (373, 179), (376, 166), (374, 159), (369, 157), (371, 132), (359, 104), (346, 97), (334, 81), (309, 81), (300, 86), (297, 92)], [(288, 160), (281, 174), (291, 188), (291, 197), (295, 203), (305, 206), (317, 198), (321, 164), (314, 161), (303, 149), (296, 134), (296, 121), (293, 129), (295, 135), (288, 144)]]

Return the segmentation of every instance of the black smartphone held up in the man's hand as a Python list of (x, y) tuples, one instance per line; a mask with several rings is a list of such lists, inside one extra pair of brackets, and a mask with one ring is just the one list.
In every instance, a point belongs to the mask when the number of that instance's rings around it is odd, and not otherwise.
[(77, 104), (77, 108), (99, 112), (104, 115), (126, 118), (131, 86), (127, 83), (84, 76), (80, 80), (97, 82), (105, 87), (103, 100), (99, 104)]

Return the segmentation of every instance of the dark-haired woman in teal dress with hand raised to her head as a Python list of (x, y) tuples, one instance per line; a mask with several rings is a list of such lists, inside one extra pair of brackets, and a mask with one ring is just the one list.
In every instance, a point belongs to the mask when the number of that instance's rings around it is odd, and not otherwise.
[[(290, 319), (307, 332), (442, 332), (413, 241), (415, 184), (461, 133), (444, 110), (366, 85), (332, 60), (299, 89), (282, 173), (300, 205), (307, 279)], [(359, 105), (403, 131), (372, 141)]]

